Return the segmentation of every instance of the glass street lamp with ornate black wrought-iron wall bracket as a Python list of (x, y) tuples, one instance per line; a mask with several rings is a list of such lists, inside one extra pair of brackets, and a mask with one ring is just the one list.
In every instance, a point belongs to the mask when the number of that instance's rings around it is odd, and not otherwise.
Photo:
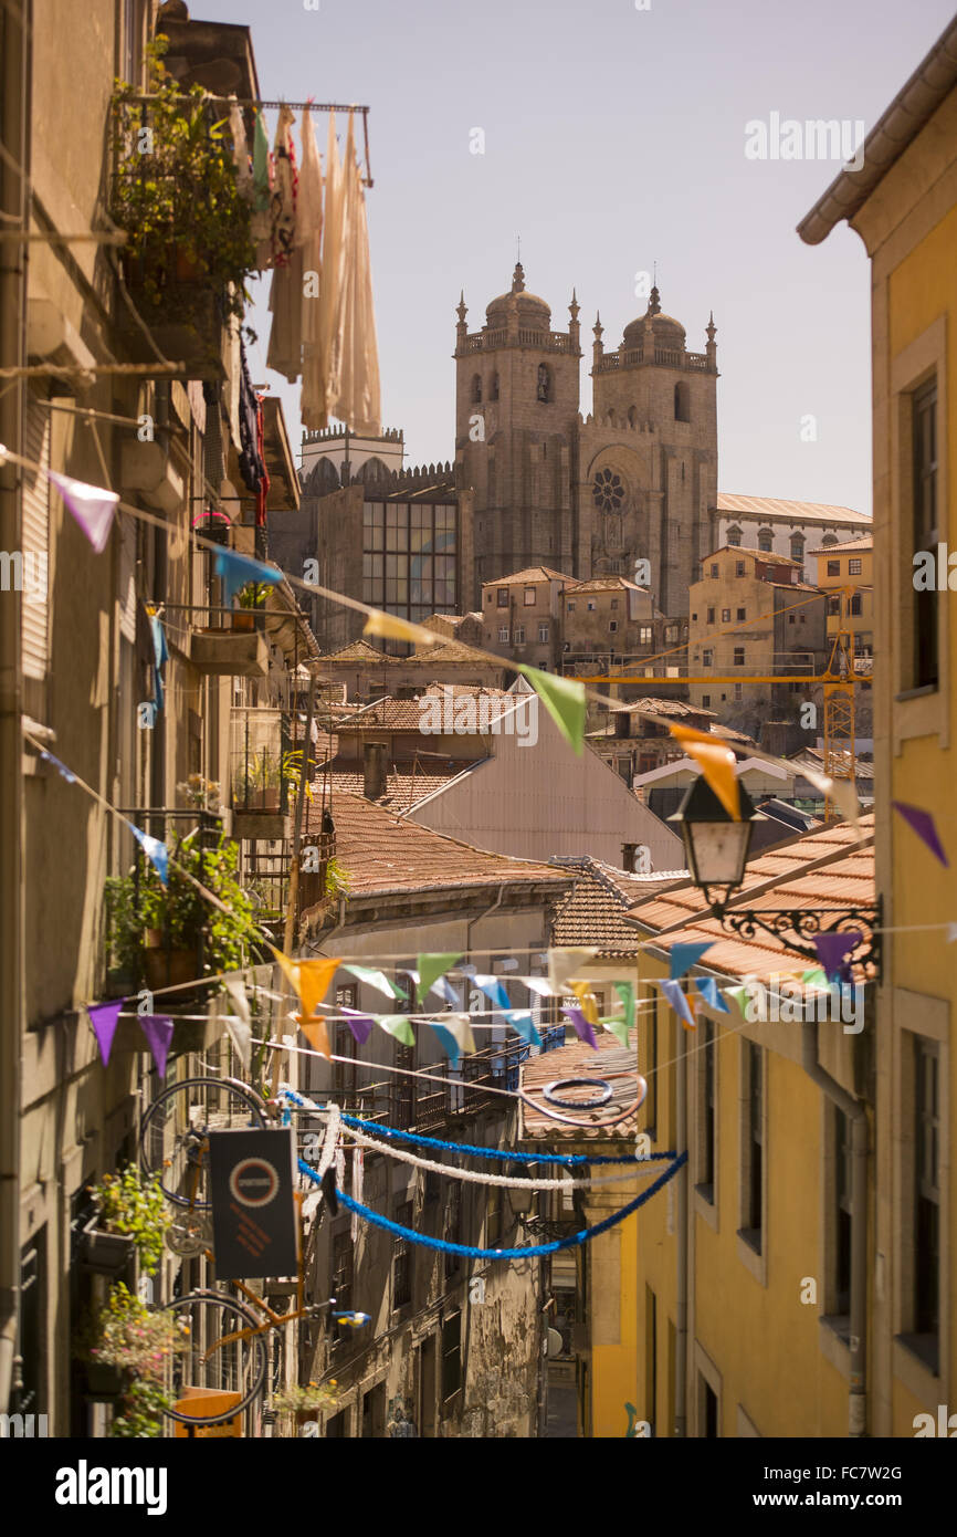
[[(797, 950), (819, 964), (816, 938), (828, 933), (846, 933), (856, 944), (848, 951), (848, 964), (859, 964), (865, 974), (880, 981), (880, 925), (882, 902), (873, 907), (731, 907), (731, 893), (745, 878), (748, 850), (754, 822), (767, 821), (739, 781), (740, 819), (734, 819), (717, 799), (704, 775), (688, 788), (677, 812), (668, 821), (677, 822), (685, 841), (685, 856), (691, 879), (713, 916), (730, 934), (742, 939), (757, 939), (762, 933), (773, 934), (788, 950)], [(717, 893), (717, 901), (711, 898)]]

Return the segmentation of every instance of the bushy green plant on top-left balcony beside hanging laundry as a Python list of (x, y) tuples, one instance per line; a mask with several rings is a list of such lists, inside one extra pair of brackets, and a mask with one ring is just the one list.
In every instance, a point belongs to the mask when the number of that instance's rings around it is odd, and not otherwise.
[[(149, 103), (135, 100), (137, 86), (115, 81), (111, 214), (127, 234), (127, 271), (140, 271), (147, 306), (161, 310), (167, 303), (178, 255), (200, 289), (221, 292), (226, 312), (241, 321), (246, 280), (257, 271), (250, 204), (240, 194), (223, 124), (214, 123), (201, 86), (183, 92), (169, 74), (166, 48), (166, 38), (147, 48)], [(178, 312), (183, 304), (180, 287)]]

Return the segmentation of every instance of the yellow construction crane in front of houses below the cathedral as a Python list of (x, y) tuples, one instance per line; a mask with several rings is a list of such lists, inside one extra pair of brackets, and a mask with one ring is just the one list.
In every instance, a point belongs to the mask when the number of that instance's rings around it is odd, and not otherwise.
[[(730, 678), (682, 675), (661, 679), (662, 682), (685, 684), (782, 684), (800, 682), (805, 687), (820, 684), (823, 689), (823, 773), (830, 779), (857, 779), (857, 753), (854, 745), (854, 689), (871, 681), (866, 675), (854, 670), (854, 632), (849, 627), (849, 599), (859, 592), (857, 587), (831, 587), (828, 596), (840, 596), (837, 627), (831, 636), (831, 653), (828, 666), (822, 673), (736, 673)], [(871, 661), (871, 658), (868, 658)], [(644, 673), (602, 673), (590, 675), (588, 682), (644, 684)], [(834, 812), (834, 801), (825, 798), (825, 822), (830, 822)]]

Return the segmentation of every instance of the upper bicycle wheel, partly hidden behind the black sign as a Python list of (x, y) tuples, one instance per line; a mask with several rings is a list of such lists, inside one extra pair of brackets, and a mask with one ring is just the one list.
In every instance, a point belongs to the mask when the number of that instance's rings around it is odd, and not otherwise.
[(143, 1117), (140, 1162), (177, 1207), (209, 1211), (209, 1131), (266, 1125), (253, 1090), (229, 1077), (184, 1077), (157, 1096)]

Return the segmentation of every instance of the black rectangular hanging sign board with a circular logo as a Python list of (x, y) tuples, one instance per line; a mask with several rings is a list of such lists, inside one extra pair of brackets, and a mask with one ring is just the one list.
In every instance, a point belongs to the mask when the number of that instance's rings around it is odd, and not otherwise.
[(220, 1280), (295, 1276), (295, 1131), (210, 1131), (212, 1233)]

